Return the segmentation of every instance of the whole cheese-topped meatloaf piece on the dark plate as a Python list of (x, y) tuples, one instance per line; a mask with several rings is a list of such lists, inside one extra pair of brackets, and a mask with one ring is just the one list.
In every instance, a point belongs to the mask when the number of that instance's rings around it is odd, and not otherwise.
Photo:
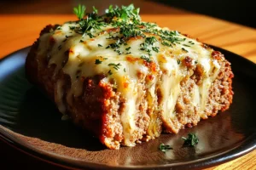
[(88, 20), (46, 26), (26, 77), (108, 148), (178, 133), (230, 107), (233, 73), (223, 54), (152, 23), (107, 14), (84, 31)]

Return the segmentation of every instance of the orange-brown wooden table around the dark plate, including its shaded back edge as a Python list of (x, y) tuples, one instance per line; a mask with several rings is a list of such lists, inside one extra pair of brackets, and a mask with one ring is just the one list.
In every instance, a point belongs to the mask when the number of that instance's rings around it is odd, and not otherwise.
[[(114, 3), (117, 2), (115, 1)], [(99, 10), (106, 8), (109, 5), (109, 3), (104, 3), (104, 5), (102, 5), (98, 1), (96, 1), (96, 3), (88, 2), (85, 4), (88, 7), (95, 4), (96, 7), (100, 7)], [(125, 4), (127, 4), (126, 1)], [(58, 6), (55, 6), (54, 4), (47, 6), (44, 1), (38, 1), (38, 3), (22, 3), (19, 4), (19, 8), (15, 9), (12, 8), (13, 5), (13, 3), (0, 3), (0, 10), (2, 11), (0, 14), (0, 21), (2, 23), (0, 26), (0, 59), (7, 54), (15, 52), (15, 50), (32, 45), (32, 42), (36, 40), (39, 32), (44, 28), (44, 26), (50, 23), (61, 24), (67, 20), (76, 20), (73, 14), (68, 14), (69, 12), (67, 12), (72, 11), (73, 6), (76, 5), (73, 1), (67, 1), (65, 4), (61, 3)], [(188, 11), (148, 1), (138, 1), (135, 5), (142, 7), (141, 11), (143, 20), (153, 21), (160, 26), (166, 26), (172, 30), (189, 34), (191, 37), (197, 37), (201, 42), (206, 42), (214, 46), (230, 50), (231, 52), (240, 54), (241, 56), (256, 63), (256, 30), (253, 28), (240, 26), (224, 20), (214, 19), (202, 14), (192, 14)], [(150, 11), (150, 9), (154, 10)], [(6, 161), (13, 158), (10, 153), (16, 154), (20, 157), (26, 157), (26, 155), (20, 153), (20, 151), (9, 148), (9, 146), (4, 144), (3, 141), (0, 142), (0, 151), (1, 150), (4, 155), (6, 155), (5, 159), (3, 159)], [(2, 151), (1, 155), (3, 155)], [(256, 150), (253, 150), (246, 156), (241, 156), (236, 160), (207, 169), (251, 170), (256, 169), (255, 160)], [(37, 165), (45, 166), (43, 161), (36, 161), (35, 158), (26, 158), (25, 162), (17, 161), (17, 165), (22, 167), (32, 163), (33, 161), (36, 162)], [(47, 166), (47, 169), (56, 168), (53, 165)], [(30, 168), (27, 167), (27, 169)]]

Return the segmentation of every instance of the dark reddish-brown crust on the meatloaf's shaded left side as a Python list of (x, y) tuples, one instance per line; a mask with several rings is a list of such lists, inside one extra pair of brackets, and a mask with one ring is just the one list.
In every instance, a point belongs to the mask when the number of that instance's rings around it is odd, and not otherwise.
[[(46, 26), (40, 35), (55, 29), (56, 26)], [(78, 97), (67, 99), (67, 92), (70, 90), (70, 77), (62, 71), (55, 74), (55, 65), (48, 66), (48, 60), (45, 56), (37, 56), (38, 41), (34, 42), (32, 48), (26, 58), (26, 78), (32, 84), (37, 85), (40, 89), (55, 101), (55, 83), (56, 80), (63, 82), (62, 102), (67, 108), (67, 115), (70, 116), (73, 122), (79, 127), (83, 127), (94, 133), (108, 148), (119, 148), (119, 143), (123, 140), (122, 127), (118, 121), (117, 109), (113, 111), (113, 103), (119, 104), (118, 95), (113, 92), (111, 85), (102, 83), (104, 76), (95, 77), (80, 77), (79, 80), (84, 82), (84, 92)], [(67, 55), (68, 57), (68, 55)], [(38, 63), (40, 65), (38, 65)], [(66, 62), (63, 63), (64, 66)], [(41, 67), (41, 68), (40, 68)], [(53, 76), (55, 74), (55, 76)], [(115, 116), (116, 118), (113, 118)], [(114, 121), (110, 125), (108, 122)], [(116, 132), (113, 132), (116, 131)], [(107, 141), (106, 139), (114, 141)]]

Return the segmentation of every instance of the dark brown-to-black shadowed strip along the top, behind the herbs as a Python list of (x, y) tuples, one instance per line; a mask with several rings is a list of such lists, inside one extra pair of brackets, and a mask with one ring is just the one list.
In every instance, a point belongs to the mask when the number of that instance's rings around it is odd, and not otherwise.
[[(152, 2), (160, 5), (155, 6)], [(141, 14), (175, 14), (179, 8), (256, 28), (255, 5), (252, 0), (2, 0), (0, 14), (71, 14), (73, 11), (70, 7), (78, 3), (88, 7), (94, 5), (101, 12), (109, 4), (134, 3), (141, 8)], [(170, 10), (170, 7), (174, 8)]]

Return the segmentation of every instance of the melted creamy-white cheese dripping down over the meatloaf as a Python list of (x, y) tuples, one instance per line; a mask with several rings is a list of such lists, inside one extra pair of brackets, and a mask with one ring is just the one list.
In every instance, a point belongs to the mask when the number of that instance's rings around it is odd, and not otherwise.
[[(201, 42), (197, 42), (189, 37), (178, 34), (178, 38), (184, 41), (177, 43), (172, 47), (161, 44), (160, 41), (154, 42), (154, 47), (159, 48), (159, 52), (151, 51), (151, 63), (147, 63), (141, 57), (148, 55), (148, 52), (141, 50), (143, 38), (135, 37), (127, 41), (127, 44), (120, 45), (118, 54), (113, 48), (107, 48), (115, 42), (109, 39), (108, 31), (113, 26), (108, 25), (102, 27), (102, 30), (94, 30), (95, 37), (85, 36), (70, 29), (71, 26), (78, 26), (76, 22), (65, 23), (61, 26), (61, 30), (51, 31), (39, 38), (38, 55), (49, 55), (49, 65), (55, 64), (55, 71), (62, 69), (64, 73), (71, 77), (71, 90), (67, 92), (67, 103), (72, 105), (72, 96), (79, 96), (83, 92), (83, 83), (80, 77), (93, 77), (95, 75), (106, 75), (102, 81), (110, 83), (114, 80), (114, 86), (120, 92), (121, 97), (125, 99), (125, 110), (121, 114), (121, 123), (124, 129), (124, 143), (127, 146), (135, 145), (131, 140), (131, 135), (136, 131), (135, 115), (137, 113), (136, 101), (140, 92), (137, 83), (139, 80), (138, 73), (143, 75), (152, 75), (154, 78), (146, 84), (148, 107), (154, 109), (154, 113), (160, 112), (161, 118), (167, 124), (172, 126), (172, 121), (177, 119), (175, 116), (175, 105), (177, 97), (180, 94), (180, 82), (188, 76), (187, 68), (182, 61), (189, 56), (192, 59), (192, 65), (201, 65), (204, 71), (203, 80), (200, 86), (195, 86), (193, 101), (191, 105), (195, 105), (201, 112), (205, 110), (207, 104), (207, 95), (212, 82), (218, 75), (219, 65), (211, 57), (212, 49), (203, 48)], [(160, 27), (156, 27), (160, 30)], [(162, 30), (167, 30), (166, 28)], [(119, 36), (119, 32), (115, 32)], [(160, 39), (155, 35), (156, 39)], [(51, 45), (50, 39), (54, 39), (55, 43)], [(189, 47), (184, 46), (186, 44)], [(127, 48), (129, 48), (127, 50)], [(152, 45), (149, 45), (149, 48)], [(185, 49), (185, 50), (184, 50)], [(131, 52), (131, 54), (126, 54)], [(68, 55), (67, 64), (63, 65), (63, 59)], [(100, 60), (100, 64), (96, 64), (96, 59)], [(179, 63), (179, 61), (181, 61)], [(196, 63), (197, 62), (197, 63)], [(113, 65), (118, 65), (114, 68)], [(212, 71), (213, 74), (212, 74)], [(110, 74), (112, 73), (112, 74)], [(55, 103), (59, 110), (65, 114), (65, 106), (63, 105), (61, 90), (62, 82), (55, 84), (56, 94)], [(160, 89), (162, 99), (158, 105), (156, 104), (156, 89)], [(158, 136), (154, 123), (160, 121), (159, 116), (151, 115), (151, 122), (148, 126), (149, 136)], [(180, 127), (182, 125), (179, 125)]]

